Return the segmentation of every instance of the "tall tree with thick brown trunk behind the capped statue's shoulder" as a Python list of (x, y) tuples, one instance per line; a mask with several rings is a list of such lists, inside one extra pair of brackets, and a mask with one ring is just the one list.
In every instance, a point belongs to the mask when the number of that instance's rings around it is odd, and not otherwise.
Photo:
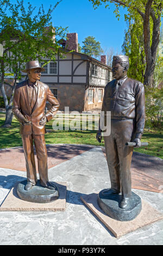
[[(163, 2), (162, 0), (89, 0), (93, 3), (93, 7), (97, 8), (102, 3), (105, 7), (109, 7), (109, 3), (115, 4), (115, 14), (120, 16), (119, 8), (127, 8), (128, 15), (126, 19), (132, 20), (135, 16), (140, 15), (143, 24), (143, 47), (146, 56), (146, 70), (144, 75), (144, 84), (147, 87), (152, 87), (153, 74), (156, 63), (156, 53), (160, 40), (160, 24)], [(151, 28), (150, 20), (153, 26)], [(151, 43), (152, 29), (152, 43)]]

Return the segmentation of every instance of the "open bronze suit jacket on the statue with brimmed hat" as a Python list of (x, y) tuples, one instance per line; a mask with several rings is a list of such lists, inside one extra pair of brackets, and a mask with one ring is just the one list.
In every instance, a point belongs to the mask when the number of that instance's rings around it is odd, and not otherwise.
[[(28, 80), (17, 84), (12, 112), (20, 122), (20, 133), (22, 135), (31, 135), (32, 133), (35, 135), (45, 134), (45, 126), (40, 125), (40, 119), (45, 115), (46, 101), (52, 104), (52, 108), (46, 113), (47, 121), (49, 121), (57, 113), (59, 102), (47, 84), (37, 81), (37, 99), (33, 109), (31, 109), (29, 103)], [(30, 125), (22, 125), (25, 118), (31, 121)]]

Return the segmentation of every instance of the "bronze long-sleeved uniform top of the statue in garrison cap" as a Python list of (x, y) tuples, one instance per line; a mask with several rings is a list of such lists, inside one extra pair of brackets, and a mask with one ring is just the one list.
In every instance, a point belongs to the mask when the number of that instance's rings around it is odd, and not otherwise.
[(116, 85), (112, 80), (105, 86), (102, 111), (111, 112), (112, 119), (134, 119), (135, 133), (141, 138), (145, 127), (145, 89), (143, 84), (132, 78)]

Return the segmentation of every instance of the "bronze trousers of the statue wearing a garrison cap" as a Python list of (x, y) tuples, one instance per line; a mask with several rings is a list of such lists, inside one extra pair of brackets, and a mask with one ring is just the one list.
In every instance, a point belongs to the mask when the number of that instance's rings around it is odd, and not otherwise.
[(104, 136), (106, 160), (109, 168), (111, 188), (122, 192), (122, 197), (131, 195), (131, 157), (133, 147), (128, 147), (134, 134), (133, 119), (111, 119), (111, 133)]

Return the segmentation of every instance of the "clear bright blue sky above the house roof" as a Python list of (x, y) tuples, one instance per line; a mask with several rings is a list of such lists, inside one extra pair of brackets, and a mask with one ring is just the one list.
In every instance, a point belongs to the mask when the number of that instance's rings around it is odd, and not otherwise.
[[(57, 3), (55, 0), (29, 0), (24, 1), (25, 5), (27, 2), (38, 8), (43, 4), (46, 11), (49, 5)], [(114, 4), (110, 4), (110, 9), (105, 9), (103, 4), (95, 10), (89, 0), (62, 0), (54, 10), (52, 21), (54, 26), (68, 27), (69, 33), (78, 33), (80, 45), (91, 35), (101, 42), (105, 51), (111, 47), (115, 53), (121, 53), (124, 29), (127, 29), (127, 23), (124, 21), (126, 10), (121, 8), (120, 21), (113, 12)]]

